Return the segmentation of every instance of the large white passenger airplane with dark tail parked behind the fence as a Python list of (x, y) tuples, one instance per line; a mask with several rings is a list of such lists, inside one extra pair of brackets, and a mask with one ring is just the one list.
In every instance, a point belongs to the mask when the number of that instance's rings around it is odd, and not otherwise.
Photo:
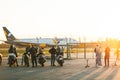
[(77, 43), (75, 39), (72, 38), (28, 38), (28, 39), (17, 39), (6, 27), (3, 27), (4, 34), (6, 36), (7, 44), (13, 44), (16, 46), (28, 46), (30, 44), (41, 46), (43, 48), (50, 46), (66, 46), (67, 43)]

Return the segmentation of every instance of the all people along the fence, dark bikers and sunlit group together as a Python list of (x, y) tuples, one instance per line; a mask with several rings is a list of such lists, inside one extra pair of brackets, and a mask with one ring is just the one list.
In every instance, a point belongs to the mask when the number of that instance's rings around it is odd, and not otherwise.
[[(102, 50), (101, 46), (100, 45), (96, 45), (96, 47), (94, 49), (94, 52), (96, 54), (96, 66), (102, 66), (102, 61), (101, 61), (102, 51), (103, 50)], [(104, 64), (105, 64), (105, 66), (109, 66), (110, 47), (107, 46), (105, 48), (104, 52), (105, 52)], [(17, 51), (16, 51), (16, 48), (15, 48), (14, 45), (10, 46), (10, 48), (8, 50), (8, 53), (9, 53), (9, 56), (13, 55), (15, 57), (15, 62), (17, 64), (17, 66), (18, 66), (18, 61), (17, 61), (18, 55), (17, 55)], [(32, 67), (37, 67), (37, 58), (36, 57), (39, 54), (43, 54), (42, 48), (39, 48), (39, 50), (37, 50), (37, 48), (34, 47), (33, 45), (32, 46), (28, 46), (28, 47), (26, 47), (26, 52), (25, 53), (28, 54), (29, 56), (31, 56)], [(56, 60), (58, 55), (62, 55), (63, 56), (64, 48), (60, 47), (60, 46), (57, 46), (55, 48), (55, 46), (52, 46), (49, 49), (49, 53), (51, 54), (51, 66), (56, 66), (55, 65), (55, 60)], [(9, 57), (8, 57), (8, 64), (9, 64)]]

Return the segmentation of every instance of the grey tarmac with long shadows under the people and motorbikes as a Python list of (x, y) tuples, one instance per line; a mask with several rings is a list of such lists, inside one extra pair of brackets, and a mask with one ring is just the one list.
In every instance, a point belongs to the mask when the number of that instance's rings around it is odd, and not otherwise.
[[(0, 80), (120, 80), (120, 61), (110, 60), (110, 66), (95, 66), (95, 58), (89, 59), (88, 65), (85, 68), (86, 59), (71, 59), (65, 60), (63, 67), (60, 67), (57, 62), (55, 67), (50, 66), (50, 60), (47, 60), (45, 67), (32, 68), (24, 67), (8, 67), (7, 60), (0, 66)], [(20, 64), (20, 59), (19, 59)]]

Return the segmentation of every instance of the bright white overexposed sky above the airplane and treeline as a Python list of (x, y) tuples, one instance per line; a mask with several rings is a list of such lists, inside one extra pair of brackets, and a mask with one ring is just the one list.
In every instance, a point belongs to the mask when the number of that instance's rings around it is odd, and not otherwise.
[(120, 39), (120, 0), (0, 0), (2, 27), (17, 38)]

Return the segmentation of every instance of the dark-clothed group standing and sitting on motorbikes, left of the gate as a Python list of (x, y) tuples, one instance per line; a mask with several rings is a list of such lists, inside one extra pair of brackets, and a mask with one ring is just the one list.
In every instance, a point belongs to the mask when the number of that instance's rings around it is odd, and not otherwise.
[[(57, 48), (55, 48), (55, 46), (52, 46), (52, 48), (49, 49), (49, 53), (51, 54), (51, 66), (55, 66), (56, 57), (60, 54), (63, 55), (63, 52), (64, 52), (63, 47), (60, 48), (59, 46), (57, 46)], [(9, 56), (11, 55), (14, 56), (15, 62), (18, 66), (18, 61), (17, 61), (18, 55), (14, 45), (10, 45), (8, 53), (9, 53)], [(37, 48), (34, 45), (31, 45), (31, 46), (28, 45), (23, 55), (25, 54), (28, 54), (29, 57), (31, 58), (32, 67), (37, 67), (37, 57), (41, 54), (44, 55), (43, 48), (41, 47)], [(8, 64), (9, 64), (9, 57), (8, 57)]]

